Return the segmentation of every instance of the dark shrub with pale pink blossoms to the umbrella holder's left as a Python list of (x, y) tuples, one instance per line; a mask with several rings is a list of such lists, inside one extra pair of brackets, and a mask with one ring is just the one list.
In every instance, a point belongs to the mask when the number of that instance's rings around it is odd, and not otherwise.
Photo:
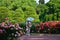
[(0, 38), (20, 37), (23, 34), (22, 30), (23, 28), (21, 28), (18, 23), (13, 25), (12, 23), (2, 22), (0, 23)]

